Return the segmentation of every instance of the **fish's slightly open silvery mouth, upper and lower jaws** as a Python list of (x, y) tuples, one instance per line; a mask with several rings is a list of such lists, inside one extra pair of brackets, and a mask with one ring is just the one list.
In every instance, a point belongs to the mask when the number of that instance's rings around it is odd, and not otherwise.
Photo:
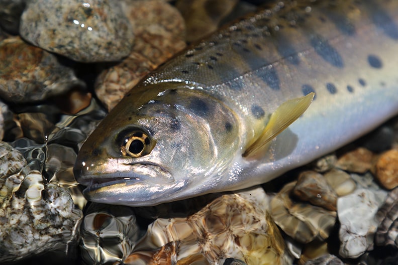
[(155, 205), (183, 187), (163, 166), (153, 163), (131, 163), (111, 158), (75, 164), (77, 181), (86, 186), (84, 197), (92, 202), (126, 206)]

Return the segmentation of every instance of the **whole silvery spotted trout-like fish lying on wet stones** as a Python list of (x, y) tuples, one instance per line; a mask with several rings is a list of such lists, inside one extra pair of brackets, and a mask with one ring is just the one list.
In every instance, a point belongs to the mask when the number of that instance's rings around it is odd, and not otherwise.
[(397, 1), (277, 1), (140, 81), (74, 175), (127, 206), (263, 184), (398, 114), (397, 70)]

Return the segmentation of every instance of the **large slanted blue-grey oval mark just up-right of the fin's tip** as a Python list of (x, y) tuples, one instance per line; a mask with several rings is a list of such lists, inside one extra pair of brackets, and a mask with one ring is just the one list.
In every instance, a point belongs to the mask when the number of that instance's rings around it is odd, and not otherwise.
[(311, 38), (311, 45), (325, 61), (338, 68), (344, 67), (343, 59), (339, 52), (325, 38), (315, 35)]

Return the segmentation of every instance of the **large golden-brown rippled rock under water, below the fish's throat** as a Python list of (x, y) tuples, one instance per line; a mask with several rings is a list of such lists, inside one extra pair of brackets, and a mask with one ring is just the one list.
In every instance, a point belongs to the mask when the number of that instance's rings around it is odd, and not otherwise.
[(279, 230), (267, 213), (268, 201), (261, 187), (253, 187), (225, 193), (186, 217), (158, 218), (132, 254), (178, 241), (177, 264), (191, 264), (188, 260), (196, 258), (200, 264), (206, 260), (218, 264), (228, 257), (247, 264), (291, 263)]

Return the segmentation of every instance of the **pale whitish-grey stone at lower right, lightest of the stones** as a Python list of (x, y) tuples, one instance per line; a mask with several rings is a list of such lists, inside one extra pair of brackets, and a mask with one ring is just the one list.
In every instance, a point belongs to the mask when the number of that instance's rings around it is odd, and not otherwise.
[(382, 191), (359, 188), (352, 194), (337, 200), (337, 212), (340, 221), (339, 254), (346, 258), (356, 258), (373, 245), (373, 236), (377, 222), (375, 215), (383, 203)]

